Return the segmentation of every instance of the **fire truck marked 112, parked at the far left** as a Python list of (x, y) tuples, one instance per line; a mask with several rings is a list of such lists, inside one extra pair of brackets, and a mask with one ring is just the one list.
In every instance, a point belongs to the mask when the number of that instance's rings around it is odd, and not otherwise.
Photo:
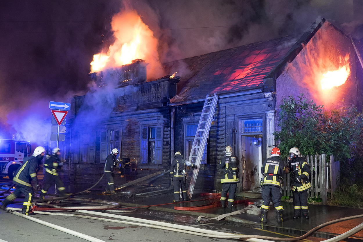
[(24, 158), (31, 152), (29, 141), (0, 139), (0, 178), (8, 176), (12, 180)]

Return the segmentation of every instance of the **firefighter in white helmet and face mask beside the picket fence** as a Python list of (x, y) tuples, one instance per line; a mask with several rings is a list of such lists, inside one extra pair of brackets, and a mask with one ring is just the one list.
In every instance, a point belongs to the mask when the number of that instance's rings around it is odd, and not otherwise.
[(289, 151), (289, 162), (285, 167), (285, 173), (291, 172), (291, 190), (293, 191), (294, 219), (309, 218), (307, 206), (307, 190), (311, 187), (309, 177), (310, 167), (306, 159), (302, 157), (299, 149), (294, 147)]

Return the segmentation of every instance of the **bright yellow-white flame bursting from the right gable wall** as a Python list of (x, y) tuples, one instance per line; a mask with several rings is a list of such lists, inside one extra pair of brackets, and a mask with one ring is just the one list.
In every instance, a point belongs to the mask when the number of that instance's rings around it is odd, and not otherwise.
[[(348, 61), (348, 58), (349, 56), (346, 56), (344, 58), (344, 63)], [(346, 63), (337, 70), (328, 71), (323, 74), (323, 77), (320, 80), (321, 89), (328, 90), (333, 88), (334, 86), (340, 86), (347, 81), (349, 75), (350, 75), (349, 63)]]

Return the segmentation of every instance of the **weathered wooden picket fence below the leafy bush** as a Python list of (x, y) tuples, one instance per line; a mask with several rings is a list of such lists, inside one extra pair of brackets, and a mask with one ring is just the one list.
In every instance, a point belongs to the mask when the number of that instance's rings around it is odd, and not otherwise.
[[(326, 161), (326, 154), (307, 155), (306, 160), (310, 166), (310, 182), (311, 188), (308, 195), (311, 198), (321, 198), (323, 205), (327, 204), (327, 194), (330, 193), (331, 198), (337, 186), (339, 185), (339, 161), (334, 160), (334, 156), (330, 156), (330, 161)], [(282, 195), (292, 196), (290, 186), (290, 173), (285, 174)]]

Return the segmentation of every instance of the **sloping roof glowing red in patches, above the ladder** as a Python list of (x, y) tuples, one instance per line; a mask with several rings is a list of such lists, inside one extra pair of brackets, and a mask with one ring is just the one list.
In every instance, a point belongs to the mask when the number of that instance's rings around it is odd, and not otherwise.
[(297, 39), (286, 36), (168, 62), (166, 70), (181, 76), (171, 104), (203, 100), (208, 93), (263, 88), (264, 77), (281, 63)]

